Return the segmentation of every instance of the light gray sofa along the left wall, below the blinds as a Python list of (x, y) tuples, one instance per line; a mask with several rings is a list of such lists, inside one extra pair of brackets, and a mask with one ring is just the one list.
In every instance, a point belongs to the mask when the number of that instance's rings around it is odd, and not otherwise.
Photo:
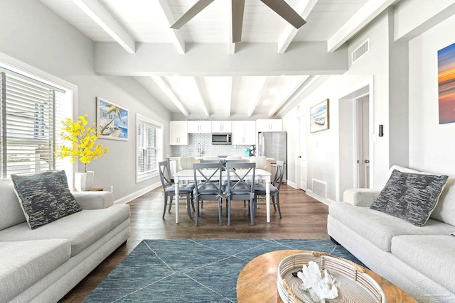
[(0, 302), (57, 302), (129, 237), (129, 205), (75, 192), (82, 211), (31, 229), (0, 180)]

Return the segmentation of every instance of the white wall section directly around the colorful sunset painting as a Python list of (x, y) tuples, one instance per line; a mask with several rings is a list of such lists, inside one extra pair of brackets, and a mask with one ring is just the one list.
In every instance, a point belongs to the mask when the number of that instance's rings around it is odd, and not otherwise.
[(455, 123), (439, 124), (437, 51), (455, 43), (455, 16), (410, 40), (410, 167), (455, 175)]

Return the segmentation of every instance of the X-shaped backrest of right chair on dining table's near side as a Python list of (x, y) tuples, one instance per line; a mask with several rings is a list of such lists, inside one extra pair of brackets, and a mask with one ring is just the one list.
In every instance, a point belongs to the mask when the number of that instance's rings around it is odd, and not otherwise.
[[(255, 168), (256, 163), (254, 162), (227, 162), (228, 186), (225, 189), (226, 194), (254, 194)], [(251, 182), (248, 183), (248, 180)]]

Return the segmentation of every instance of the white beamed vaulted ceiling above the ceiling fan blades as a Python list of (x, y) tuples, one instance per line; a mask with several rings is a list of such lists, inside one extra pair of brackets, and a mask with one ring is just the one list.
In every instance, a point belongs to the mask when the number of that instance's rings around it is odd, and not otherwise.
[[(234, 1), (234, 0), (232, 0)], [(343, 43), (394, 0), (286, 0), (296, 29), (259, 0), (245, 0), (232, 41), (231, 1), (215, 0), (180, 29), (198, 0), (41, 0), (95, 41), (95, 71), (131, 76), (174, 115), (273, 117), (319, 75), (347, 70)]]

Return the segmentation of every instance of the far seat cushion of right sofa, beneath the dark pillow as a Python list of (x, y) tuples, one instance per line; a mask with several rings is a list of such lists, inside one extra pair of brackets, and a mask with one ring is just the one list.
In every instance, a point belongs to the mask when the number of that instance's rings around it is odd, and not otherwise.
[(378, 248), (390, 252), (391, 240), (400, 235), (449, 235), (454, 226), (429, 219), (423, 227), (368, 207), (332, 202), (328, 212), (333, 218), (368, 239)]

